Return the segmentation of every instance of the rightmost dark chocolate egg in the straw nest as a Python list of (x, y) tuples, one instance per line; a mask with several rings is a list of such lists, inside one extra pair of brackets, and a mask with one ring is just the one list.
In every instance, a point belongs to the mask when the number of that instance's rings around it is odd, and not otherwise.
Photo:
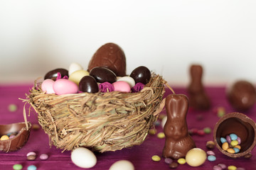
[(135, 83), (147, 84), (149, 83), (151, 72), (144, 66), (137, 67), (132, 71), (130, 77), (134, 79)]

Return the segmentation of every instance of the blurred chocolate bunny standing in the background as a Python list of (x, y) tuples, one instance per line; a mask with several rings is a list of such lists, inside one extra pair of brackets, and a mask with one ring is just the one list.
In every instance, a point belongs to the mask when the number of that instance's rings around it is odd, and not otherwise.
[(188, 86), (189, 106), (198, 110), (210, 108), (210, 98), (203, 87), (203, 67), (193, 64), (190, 68), (191, 82)]

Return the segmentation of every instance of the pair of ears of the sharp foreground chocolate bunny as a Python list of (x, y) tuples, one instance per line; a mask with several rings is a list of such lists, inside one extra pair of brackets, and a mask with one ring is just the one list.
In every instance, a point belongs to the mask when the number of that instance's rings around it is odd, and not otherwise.
[(182, 120), (186, 118), (188, 111), (188, 97), (183, 94), (169, 94), (165, 106), (167, 118)]

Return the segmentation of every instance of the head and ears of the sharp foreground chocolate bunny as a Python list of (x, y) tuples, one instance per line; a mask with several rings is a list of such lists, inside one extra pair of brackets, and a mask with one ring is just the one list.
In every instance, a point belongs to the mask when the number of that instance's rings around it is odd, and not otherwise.
[(166, 137), (175, 140), (188, 135), (186, 113), (188, 111), (188, 98), (183, 94), (171, 94), (166, 97), (167, 121), (164, 126)]

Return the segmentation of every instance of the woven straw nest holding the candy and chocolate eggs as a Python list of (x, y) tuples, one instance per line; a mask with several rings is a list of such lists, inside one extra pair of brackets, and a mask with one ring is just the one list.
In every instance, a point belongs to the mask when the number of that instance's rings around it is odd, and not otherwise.
[(55, 95), (45, 94), (35, 82), (24, 101), (38, 113), (50, 145), (63, 151), (87, 147), (107, 152), (142, 144), (164, 108), (164, 84), (161, 76), (151, 74), (149, 83), (137, 93)]

